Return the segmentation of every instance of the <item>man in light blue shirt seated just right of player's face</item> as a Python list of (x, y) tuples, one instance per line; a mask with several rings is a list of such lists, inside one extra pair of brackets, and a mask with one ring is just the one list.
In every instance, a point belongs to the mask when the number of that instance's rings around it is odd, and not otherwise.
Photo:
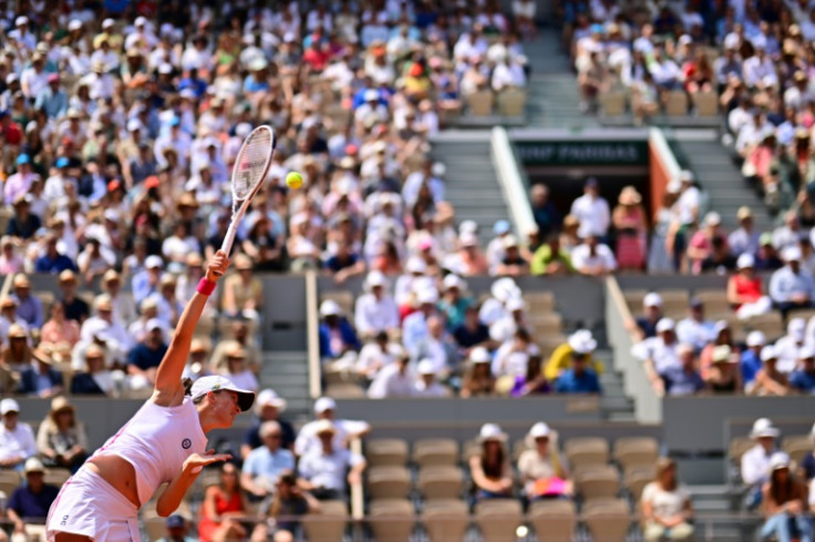
[(244, 461), (241, 485), (254, 500), (271, 494), (281, 472), (295, 470), (295, 454), (281, 446), (282, 428), (277, 421), (265, 421), (260, 426), (264, 446), (252, 450)]

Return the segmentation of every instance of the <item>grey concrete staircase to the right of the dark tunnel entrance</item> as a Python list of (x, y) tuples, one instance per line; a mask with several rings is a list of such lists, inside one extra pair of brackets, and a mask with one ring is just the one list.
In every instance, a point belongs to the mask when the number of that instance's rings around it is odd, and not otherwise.
[(755, 228), (766, 232), (773, 218), (756, 194), (743, 181), (730, 152), (719, 141), (715, 130), (675, 130), (669, 134), (680, 162), (691, 170), (708, 197), (708, 208), (722, 215), (728, 231), (739, 227), (736, 212), (746, 205), (753, 209)]

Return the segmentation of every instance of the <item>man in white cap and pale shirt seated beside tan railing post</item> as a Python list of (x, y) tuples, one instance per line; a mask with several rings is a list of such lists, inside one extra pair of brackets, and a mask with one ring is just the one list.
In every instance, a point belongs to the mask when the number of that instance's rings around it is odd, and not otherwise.
[(337, 447), (334, 443), (337, 434), (331, 421), (318, 421), (314, 426), (314, 437), (319, 447), (303, 454), (298, 464), (300, 487), (317, 499), (343, 499), (345, 480), (351, 485), (362, 482), (364, 458), (345, 448)]

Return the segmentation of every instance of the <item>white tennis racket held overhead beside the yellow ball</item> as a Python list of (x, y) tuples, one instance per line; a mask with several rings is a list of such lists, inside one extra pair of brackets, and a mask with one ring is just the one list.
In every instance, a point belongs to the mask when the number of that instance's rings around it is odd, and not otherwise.
[(269, 173), (277, 139), (270, 126), (258, 126), (246, 137), (233, 167), (233, 218), (220, 249), (229, 254), (238, 224)]

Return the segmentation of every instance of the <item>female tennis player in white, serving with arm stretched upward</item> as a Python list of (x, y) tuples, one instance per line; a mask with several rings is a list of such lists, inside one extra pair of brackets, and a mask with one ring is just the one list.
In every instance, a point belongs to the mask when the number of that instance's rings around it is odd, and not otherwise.
[(156, 511), (167, 517), (202, 469), (230, 456), (206, 449), (206, 433), (228, 428), (255, 393), (224, 377), (182, 382), (193, 331), (229, 260), (218, 250), (187, 304), (164, 356), (153, 396), (62, 487), (47, 522), (50, 542), (140, 542), (138, 509), (165, 482)]

